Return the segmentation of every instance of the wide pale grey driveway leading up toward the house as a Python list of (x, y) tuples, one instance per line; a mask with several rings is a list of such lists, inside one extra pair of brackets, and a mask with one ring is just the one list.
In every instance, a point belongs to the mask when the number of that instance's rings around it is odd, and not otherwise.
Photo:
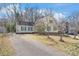
[(41, 42), (28, 37), (21, 38), (19, 34), (10, 36), (11, 43), (15, 49), (16, 56), (65, 56), (64, 53), (55, 48), (48, 47)]

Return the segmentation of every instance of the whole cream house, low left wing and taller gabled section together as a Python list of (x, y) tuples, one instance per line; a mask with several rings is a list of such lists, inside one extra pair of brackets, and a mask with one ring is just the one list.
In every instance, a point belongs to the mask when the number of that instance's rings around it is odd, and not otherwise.
[(57, 24), (56, 24), (56, 20), (54, 20), (52, 17), (47, 16), (47, 17), (43, 17), (38, 19), (35, 23), (34, 22), (29, 22), (29, 21), (18, 21), (16, 23), (16, 33), (35, 33), (35, 24), (40, 20), (40, 21), (44, 21), (45, 23), (47, 23), (47, 19), (50, 18), (49, 21), (49, 25), (47, 27), (47, 29), (45, 29), (45, 32), (57, 32)]

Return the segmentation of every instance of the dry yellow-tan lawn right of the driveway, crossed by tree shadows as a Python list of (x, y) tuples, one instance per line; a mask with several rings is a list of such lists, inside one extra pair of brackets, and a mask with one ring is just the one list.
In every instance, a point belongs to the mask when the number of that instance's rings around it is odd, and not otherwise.
[[(37, 34), (25, 34), (23, 38), (31, 38), (33, 40), (38, 40), (47, 46), (55, 47), (59, 51), (62, 51), (68, 55), (78, 56), (79, 55), (79, 40), (75, 40), (72, 37), (63, 37), (64, 42), (60, 42), (59, 36), (51, 35), (50, 39), (45, 35)], [(77, 37), (78, 38), (78, 37)]]

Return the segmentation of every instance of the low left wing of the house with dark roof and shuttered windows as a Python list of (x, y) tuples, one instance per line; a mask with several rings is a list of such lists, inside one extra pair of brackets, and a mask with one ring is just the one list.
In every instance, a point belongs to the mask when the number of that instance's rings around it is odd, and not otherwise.
[(34, 23), (27, 21), (19, 21), (16, 24), (16, 33), (33, 33)]

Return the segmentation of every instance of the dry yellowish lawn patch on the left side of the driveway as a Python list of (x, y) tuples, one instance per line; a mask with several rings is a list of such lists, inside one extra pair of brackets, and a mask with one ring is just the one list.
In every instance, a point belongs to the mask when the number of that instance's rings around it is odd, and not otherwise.
[(10, 56), (14, 54), (14, 49), (11, 46), (9, 36), (0, 33), (0, 55), (1, 56)]

